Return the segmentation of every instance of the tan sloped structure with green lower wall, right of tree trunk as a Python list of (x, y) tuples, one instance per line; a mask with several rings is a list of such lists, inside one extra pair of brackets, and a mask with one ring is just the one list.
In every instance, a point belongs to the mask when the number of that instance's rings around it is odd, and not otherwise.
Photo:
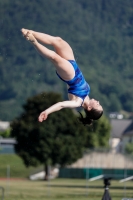
[(93, 178), (99, 175), (112, 179), (133, 176), (133, 158), (126, 154), (92, 151), (83, 158), (61, 168), (60, 178)]

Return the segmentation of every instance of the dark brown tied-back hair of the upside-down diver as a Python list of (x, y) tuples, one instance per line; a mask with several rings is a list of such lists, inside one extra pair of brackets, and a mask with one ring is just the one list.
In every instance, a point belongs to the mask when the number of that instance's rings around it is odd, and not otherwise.
[(84, 109), (86, 116), (83, 117), (83, 115), (80, 113), (80, 117), (78, 118), (80, 122), (82, 122), (82, 124), (85, 125), (91, 125), (93, 120), (98, 120), (102, 114), (103, 114), (103, 110), (96, 110), (94, 108), (92, 108), (90, 111)]

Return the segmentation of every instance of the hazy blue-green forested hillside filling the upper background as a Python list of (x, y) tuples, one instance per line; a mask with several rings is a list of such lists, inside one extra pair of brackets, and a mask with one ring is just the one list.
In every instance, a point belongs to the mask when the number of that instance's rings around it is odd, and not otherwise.
[(12, 120), (26, 99), (66, 86), (52, 64), (22, 37), (22, 27), (61, 36), (106, 113), (133, 111), (133, 1), (38, 0), (0, 3), (0, 120)]

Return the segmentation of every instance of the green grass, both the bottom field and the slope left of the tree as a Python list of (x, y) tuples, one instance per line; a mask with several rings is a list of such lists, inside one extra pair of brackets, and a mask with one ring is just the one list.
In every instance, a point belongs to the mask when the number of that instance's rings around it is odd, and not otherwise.
[[(10, 166), (10, 179), (6, 178), (7, 166)], [(0, 186), (5, 189), (4, 200), (101, 200), (104, 188), (103, 180), (89, 182), (85, 179), (54, 179), (45, 181), (15, 180), (26, 178), (35, 168), (26, 168), (17, 155), (0, 155)], [(124, 190), (125, 188), (125, 190)], [(133, 198), (133, 181), (120, 183), (111, 181), (112, 200), (123, 197)], [(0, 200), (2, 191), (0, 189)]]

